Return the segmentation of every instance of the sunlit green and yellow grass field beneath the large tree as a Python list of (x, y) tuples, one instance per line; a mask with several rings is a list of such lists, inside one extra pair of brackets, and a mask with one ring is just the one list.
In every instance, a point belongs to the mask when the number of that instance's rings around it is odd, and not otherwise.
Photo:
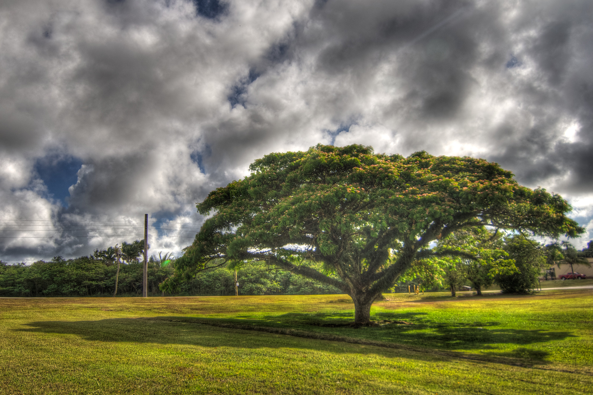
[(0, 299), (1, 394), (592, 394), (593, 290)]

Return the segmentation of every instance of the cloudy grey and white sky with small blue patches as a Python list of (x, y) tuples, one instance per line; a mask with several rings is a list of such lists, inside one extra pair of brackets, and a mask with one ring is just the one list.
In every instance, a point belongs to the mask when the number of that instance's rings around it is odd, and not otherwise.
[(179, 253), (209, 191), (317, 143), (495, 161), (593, 231), (592, 19), (591, 0), (4, 0), (0, 258), (141, 239), (145, 213), (151, 252)]

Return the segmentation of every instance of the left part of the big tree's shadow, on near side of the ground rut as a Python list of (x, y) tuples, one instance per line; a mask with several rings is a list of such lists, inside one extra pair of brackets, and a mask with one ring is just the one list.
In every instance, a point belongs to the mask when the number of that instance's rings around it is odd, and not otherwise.
[[(207, 323), (205, 323), (207, 322)], [(369, 347), (357, 343), (345, 345), (331, 339), (280, 336), (282, 333), (264, 333), (232, 326), (221, 327), (228, 320), (196, 319), (194, 317), (114, 318), (94, 321), (38, 321), (28, 327), (12, 329), (15, 332), (75, 335), (90, 342), (128, 342), (158, 345), (189, 345), (213, 349), (232, 347), (245, 349), (291, 348), (337, 354), (382, 355), (405, 357), (422, 361), (448, 361), (451, 355), (431, 355), (426, 352), (408, 352), (397, 348)], [(211, 325), (213, 324), (213, 325)], [(231, 323), (232, 325), (232, 323)], [(197, 351), (199, 352), (199, 351)]]

